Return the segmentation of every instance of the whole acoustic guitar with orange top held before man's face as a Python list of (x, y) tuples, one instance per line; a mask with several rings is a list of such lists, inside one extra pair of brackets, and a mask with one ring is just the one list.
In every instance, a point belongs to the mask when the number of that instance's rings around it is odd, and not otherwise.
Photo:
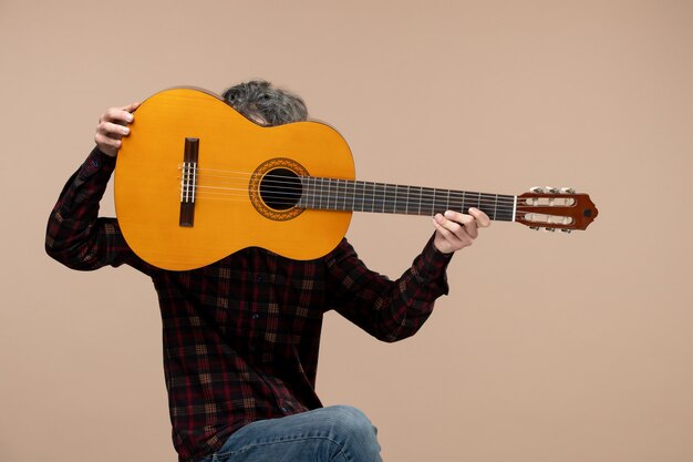
[(598, 213), (572, 189), (513, 196), (356, 181), (349, 145), (329, 125), (259, 126), (188, 88), (137, 109), (116, 161), (115, 207), (131, 248), (170, 270), (250, 246), (319, 258), (346, 234), (354, 211), (433, 216), (478, 207), (494, 220), (566, 233)]

